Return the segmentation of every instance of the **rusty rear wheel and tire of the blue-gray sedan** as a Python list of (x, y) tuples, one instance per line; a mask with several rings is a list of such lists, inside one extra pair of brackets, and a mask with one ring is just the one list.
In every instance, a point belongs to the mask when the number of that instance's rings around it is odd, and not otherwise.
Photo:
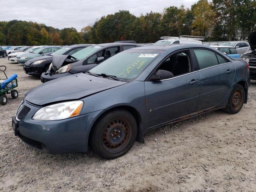
[(236, 84), (236, 86), (233, 88), (230, 94), (228, 103), (226, 107), (223, 109), (223, 111), (230, 114), (238, 113), (241, 110), (242, 106), (244, 105), (244, 100), (244, 87), (240, 84)]

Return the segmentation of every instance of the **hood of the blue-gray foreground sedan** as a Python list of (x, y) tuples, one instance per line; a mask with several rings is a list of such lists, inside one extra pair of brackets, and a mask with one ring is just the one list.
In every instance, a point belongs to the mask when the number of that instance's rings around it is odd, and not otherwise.
[(84, 98), (126, 83), (79, 73), (39, 85), (26, 93), (25, 100), (42, 106)]

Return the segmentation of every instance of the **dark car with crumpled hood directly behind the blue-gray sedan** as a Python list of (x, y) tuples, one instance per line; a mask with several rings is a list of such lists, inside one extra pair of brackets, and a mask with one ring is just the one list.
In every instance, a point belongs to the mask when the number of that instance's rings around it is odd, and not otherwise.
[(47, 72), (42, 73), (41, 81), (44, 83), (71, 74), (88, 71), (121, 51), (139, 46), (134, 43), (104, 43), (89, 46), (72, 55), (54, 56), (52, 66), (49, 67)]

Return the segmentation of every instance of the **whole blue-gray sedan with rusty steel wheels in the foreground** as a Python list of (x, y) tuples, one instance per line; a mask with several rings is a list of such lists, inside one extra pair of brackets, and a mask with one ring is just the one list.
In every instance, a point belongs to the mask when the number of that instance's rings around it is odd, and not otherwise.
[(248, 64), (203, 45), (125, 50), (85, 73), (26, 93), (12, 117), (24, 142), (52, 154), (117, 158), (153, 128), (247, 102)]

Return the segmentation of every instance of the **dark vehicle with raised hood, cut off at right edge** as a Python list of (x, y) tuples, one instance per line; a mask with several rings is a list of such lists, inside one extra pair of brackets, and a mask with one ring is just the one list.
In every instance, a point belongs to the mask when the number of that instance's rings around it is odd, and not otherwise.
[(250, 68), (250, 78), (256, 80), (256, 31), (252, 32), (248, 36), (248, 43), (250, 44), (251, 50), (242, 54), (241, 58), (246, 60)]

